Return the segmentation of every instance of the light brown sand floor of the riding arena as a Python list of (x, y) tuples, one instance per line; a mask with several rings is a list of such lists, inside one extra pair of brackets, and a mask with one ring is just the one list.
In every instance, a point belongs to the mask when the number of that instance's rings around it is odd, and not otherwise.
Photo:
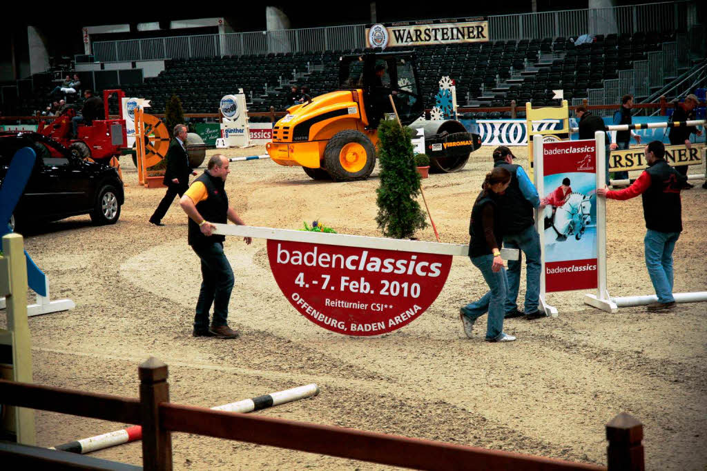
[[(517, 150), (524, 163), (525, 149)], [(264, 148), (226, 152), (259, 153)], [(490, 153), (482, 148), (462, 172), (424, 181), (443, 242), (467, 242)], [(137, 365), (154, 355), (170, 367), (176, 403), (211, 407), (316, 382), (318, 397), (257, 414), (599, 464), (606, 461), (604, 424), (629, 412), (644, 424), (648, 469), (704, 469), (707, 304), (606, 314), (585, 306), (580, 292), (551, 294), (558, 318), (506, 321), (517, 342), (483, 342), (483, 328), (467, 340), (458, 308), (486, 285), (467, 258), (457, 257), (420, 318), (387, 335), (349, 338), (293, 309), (270, 273), (264, 240), (246, 246), (230, 238), (236, 280), (229, 321), (241, 338), (192, 338), (200, 274), (185, 215), (175, 202), (165, 227), (149, 224), (163, 190), (138, 186), (129, 158), (122, 165), (126, 203), (117, 225), (93, 227), (88, 216), (73, 217), (27, 234), (52, 297), (76, 302), (72, 311), (30, 318), (35, 382), (136, 397)], [(377, 170), (368, 181), (332, 183), (269, 160), (231, 166), (230, 201), (249, 225), (298, 229), (319, 219), (340, 233), (380, 235)], [(682, 198), (674, 289), (707, 290), (707, 191), (698, 186)], [(607, 206), (610, 292), (652, 294), (640, 198)], [(431, 228), (417, 236), (434, 240)], [(36, 417), (40, 446), (124, 426), (49, 412)], [(186, 434), (174, 434), (173, 452), (177, 469), (387, 469)], [(93, 455), (140, 464), (141, 446)]]

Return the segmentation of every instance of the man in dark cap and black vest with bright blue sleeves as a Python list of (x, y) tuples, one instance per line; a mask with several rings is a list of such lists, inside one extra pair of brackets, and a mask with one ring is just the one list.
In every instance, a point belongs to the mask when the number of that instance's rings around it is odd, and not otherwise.
[(540, 237), (535, 230), (533, 208), (543, 208), (537, 189), (520, 165), (513, 164), (515, 155), (505, 145), (493, 150), (493, 167), (503, 167), (510, 172), (510, 185), (498, 198), (498, 213), (501, 215), (503, 245), (509, 249), (520, 249), (525, 254), (525, 310), (518, 310), (516, 301), (520, 289), (520, 266), (518, 260), (508, 261), (508, 297), (504, 304), (506, 318), (523, 316), (528, 320), (544, 317), (537, 309), (540, 297)]

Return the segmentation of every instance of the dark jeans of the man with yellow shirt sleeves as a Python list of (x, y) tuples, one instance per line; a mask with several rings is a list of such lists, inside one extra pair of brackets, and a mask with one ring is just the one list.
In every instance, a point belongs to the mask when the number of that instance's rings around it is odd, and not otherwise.
[(233, 290), (233, 269), (223, 253), (221, 242), (192, 246), (201, 259), (201, 290), (194, 315), (194, 330), (209, 328), (209, 309), (214, 304), (214, 320), (211, 326), (226, 326), (228, 302)]

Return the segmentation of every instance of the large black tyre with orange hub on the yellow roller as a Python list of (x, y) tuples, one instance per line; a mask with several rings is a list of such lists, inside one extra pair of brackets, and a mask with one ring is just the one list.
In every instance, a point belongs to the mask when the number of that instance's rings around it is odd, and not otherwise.
[(324, 162), (334, 180), (365, 180), (375, 167), (375, 146), (366, 134), (347, 129), (329, 139)]

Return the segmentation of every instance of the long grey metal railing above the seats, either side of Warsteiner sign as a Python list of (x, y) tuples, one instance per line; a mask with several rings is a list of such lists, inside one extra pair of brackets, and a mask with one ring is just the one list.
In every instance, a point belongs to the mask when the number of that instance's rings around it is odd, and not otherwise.
[[(585, 8), (577, 10), (489, 16), (493, 41), (568, 37), (585, 33), (637, 31), (699, 32), (694, 0)], [(223, 35), (172, 36), (151, 39), (97, 41), (98, 62), (156, 59), (199, 59), (279, 52), (322, 52), (366, 47), (366, 25), (327, 26), (293, 30), (234, 32)], [(694, 48), (704, 45), (694, 42)]]

